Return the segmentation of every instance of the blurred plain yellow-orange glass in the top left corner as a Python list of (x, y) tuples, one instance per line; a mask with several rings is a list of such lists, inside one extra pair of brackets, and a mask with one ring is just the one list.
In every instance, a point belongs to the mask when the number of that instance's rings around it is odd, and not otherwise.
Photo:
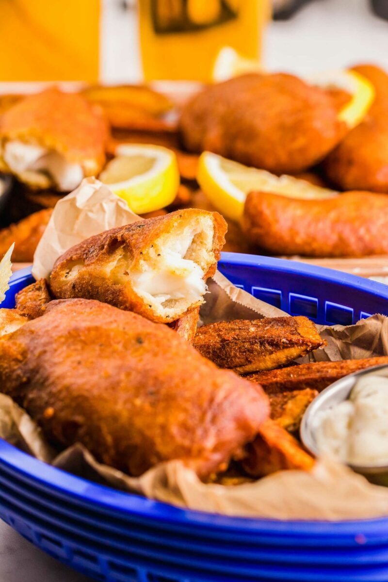
[(97, 81), (100, 0), (1, 0), (0, 81)]

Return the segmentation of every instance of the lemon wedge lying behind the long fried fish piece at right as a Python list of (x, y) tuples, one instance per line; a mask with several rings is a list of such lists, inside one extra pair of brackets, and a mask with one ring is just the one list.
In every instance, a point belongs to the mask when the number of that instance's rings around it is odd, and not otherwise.
[(234, 221), (242, 217), (245, 198), (252, 190), (305, 200), (322, 200), (338, 194), (293, 176), (278, 177), (266, 170), (248, 168), (208, 151), (200, 156), (197, 181), (213, 206)]

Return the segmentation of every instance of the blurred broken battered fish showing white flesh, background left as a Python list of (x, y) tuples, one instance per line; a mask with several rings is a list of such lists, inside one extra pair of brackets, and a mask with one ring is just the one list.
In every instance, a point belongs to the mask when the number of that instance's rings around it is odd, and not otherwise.
[(80, 95), (50, 88), (29, 95), (0, 120), (0, 169), (37, 189), (76, 188), (105, 163), (108, 126)]

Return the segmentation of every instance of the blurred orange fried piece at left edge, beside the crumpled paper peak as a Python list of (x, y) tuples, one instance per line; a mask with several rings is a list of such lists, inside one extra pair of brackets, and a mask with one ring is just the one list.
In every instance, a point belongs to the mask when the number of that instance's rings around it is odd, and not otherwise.
[(32, 262), (35, 249), (45, 231), (51, 213), (52, 209), (46, 208), (30, 214), (29, 217), (23, 218), (16, 224), (11, 224), (1, 229), (0, 258), (8, 251), (11, 244), (15, 243), (12, 260), (15, 262)]

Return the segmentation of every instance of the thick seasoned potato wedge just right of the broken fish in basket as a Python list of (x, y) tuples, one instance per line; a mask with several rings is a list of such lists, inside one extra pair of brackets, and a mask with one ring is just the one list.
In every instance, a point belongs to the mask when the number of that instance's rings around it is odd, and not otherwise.
[(325, 345), (307, 317), (265, 317), (203, 325), (194, 347), (219, 368), (270, 370)]

